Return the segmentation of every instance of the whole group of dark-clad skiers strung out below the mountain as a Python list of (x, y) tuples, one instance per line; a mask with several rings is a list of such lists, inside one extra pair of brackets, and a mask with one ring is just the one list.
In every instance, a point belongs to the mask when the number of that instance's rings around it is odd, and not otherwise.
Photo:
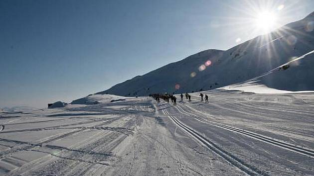
[[(160, 98), (163, 99), (164, 101), (166, 101), (167, 103), (170, 103), (170, 100), (171, 100), (171, 103), (173, 103), (173, 105), (176, 106), (176, 97), (173, 95), (173, 94), (151, 94), (150, 96), (154, 97), (154, 99), (156, 100), (156, 102), (160, 102)], [(203, 93), (200, 93), (199, 96), (201, 97), (201, 101), (204, 101), (203, 97), (204, 97), (204, 94)], [(183, 101), (183, 94), (181, 93), (180, 94), (180, 98), (181, 98), (181, 101)], [(187, 92), (185, 93), (185, 98), (188, 99), (188, 101), (191, 101), (191, 95), (189, 95)], [(209, 103), (208, 101), (208, 95), (205, 94), (205, 103)]]

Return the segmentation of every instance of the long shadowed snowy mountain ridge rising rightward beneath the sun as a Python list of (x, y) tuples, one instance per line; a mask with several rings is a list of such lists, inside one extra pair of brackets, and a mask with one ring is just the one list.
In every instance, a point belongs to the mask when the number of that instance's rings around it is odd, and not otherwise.
[[(158, 92), (193, 92), (256, 78), (314, 49), (313, 14), (229, 50), (202, 51), (96, 94), (107, 92), (121, 96), (144, 96)], [(289, 74), (280, 74), (272, 81), (268, 79), (264, 82), (287, 90), (314, 89), (311, 81), (303, 79), (309, 73), (313, 75), (313, 71), (310, 69), (303, 73), (303, 68), (298, 69), (298, 74), (282, 72)], [(289, 79), (291, 76), (293, 81)]]

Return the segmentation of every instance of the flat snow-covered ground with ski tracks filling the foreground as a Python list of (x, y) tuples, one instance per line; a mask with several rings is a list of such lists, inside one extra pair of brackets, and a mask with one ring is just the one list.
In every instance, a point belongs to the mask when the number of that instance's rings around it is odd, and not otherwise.
[(203, 93), (2, 112), (0, 175), (314, 175), (313, 93)]

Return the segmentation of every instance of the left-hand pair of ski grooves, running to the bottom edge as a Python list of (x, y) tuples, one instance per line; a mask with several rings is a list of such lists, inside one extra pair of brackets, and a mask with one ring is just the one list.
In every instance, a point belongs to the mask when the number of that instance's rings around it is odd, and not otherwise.
[(245, 172), (246, 174), (248, 174), (250, 176), (260, 176), (260, 175), (267, 176), (266, 173), (264, 173), (262, 171), (259, 171), (255, 167), (246, 164), (245, 162), (243, 162), (242, 160), (240, 160), (237, 157), (233, 156), (232, 154), (226, 152), (225, 150), (223, 150), (222, 148), (220, 148), (219, 146), (217, 146), (216, 144), (214, 144), (213, 142), (211, 142), (210, 140), (208, 140), (207, 138), (205, 138), (204, 136), (202, 136), (201, 134), (199, 134), (195, 130), (193, 130), (193, 129), (189, 128), (188, 126), (184, 125), (178, 119), (176, 119), (174, 116), (170, 115), (166, 109), (163, 108), (162, 111), (177, 126), (179, 126), (184, 131), (189, 133), (191, 136), (196, 138), (199, 142), (201, 142), (203, 145), (208, 147), (211, 151), (213, 151), (214, 153), (216, 153), (217, 155), (219, 155), (220, 157), (225, 159), (228, 163), (232, 164), (234, 167), (240, 169), (241, 171)]

